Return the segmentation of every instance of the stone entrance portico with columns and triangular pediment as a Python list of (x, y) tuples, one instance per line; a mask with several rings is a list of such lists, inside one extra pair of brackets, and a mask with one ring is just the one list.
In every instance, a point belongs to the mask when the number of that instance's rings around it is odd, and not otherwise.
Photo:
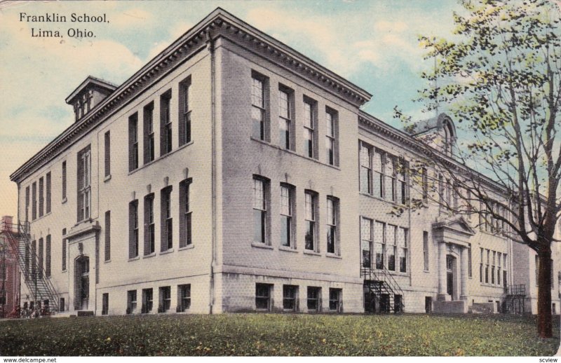
[(435, 313), (467, 313), (468, 311), (468, 249), (475, 235), (463, 217), (433, 224), (438, 244), (438, 296), (433, 303)]

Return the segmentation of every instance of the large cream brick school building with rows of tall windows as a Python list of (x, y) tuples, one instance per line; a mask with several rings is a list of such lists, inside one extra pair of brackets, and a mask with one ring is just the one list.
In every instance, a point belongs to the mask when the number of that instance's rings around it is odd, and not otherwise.
[(406, 208), (399, 171), (426, 132), (452, 160), (452, 120), (412, 137), (370, 97), (220, 8), (122, 85), (86, 78), (76, 122), (11, 175), (22, 296), (98, 315), (500, 309), (532, 273), (519, 247)]

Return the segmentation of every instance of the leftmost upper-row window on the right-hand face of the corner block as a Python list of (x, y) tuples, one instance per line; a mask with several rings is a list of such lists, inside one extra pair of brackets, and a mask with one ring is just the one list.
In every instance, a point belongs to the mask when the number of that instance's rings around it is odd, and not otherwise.
[(252, 71), (251, 87), (251, 136), (259, 140), (269, 140), (267, 125), (267, 104), (269, 98), (269, 80)]

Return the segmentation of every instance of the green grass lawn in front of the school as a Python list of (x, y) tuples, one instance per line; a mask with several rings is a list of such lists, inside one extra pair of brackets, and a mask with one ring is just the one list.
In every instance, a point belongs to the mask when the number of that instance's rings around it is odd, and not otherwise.
[(149, 315), (0, 322), (0, 355), (540, 355), (535, 317)]

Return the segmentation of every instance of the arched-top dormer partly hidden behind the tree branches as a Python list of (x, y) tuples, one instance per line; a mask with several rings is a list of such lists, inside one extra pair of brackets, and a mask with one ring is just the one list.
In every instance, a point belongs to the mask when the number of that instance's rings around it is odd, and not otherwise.
[(410, 128), (410, 134), (446, 156), (453, 155), (457, 139), (456, 127), (447, 114), (419, 121)]

